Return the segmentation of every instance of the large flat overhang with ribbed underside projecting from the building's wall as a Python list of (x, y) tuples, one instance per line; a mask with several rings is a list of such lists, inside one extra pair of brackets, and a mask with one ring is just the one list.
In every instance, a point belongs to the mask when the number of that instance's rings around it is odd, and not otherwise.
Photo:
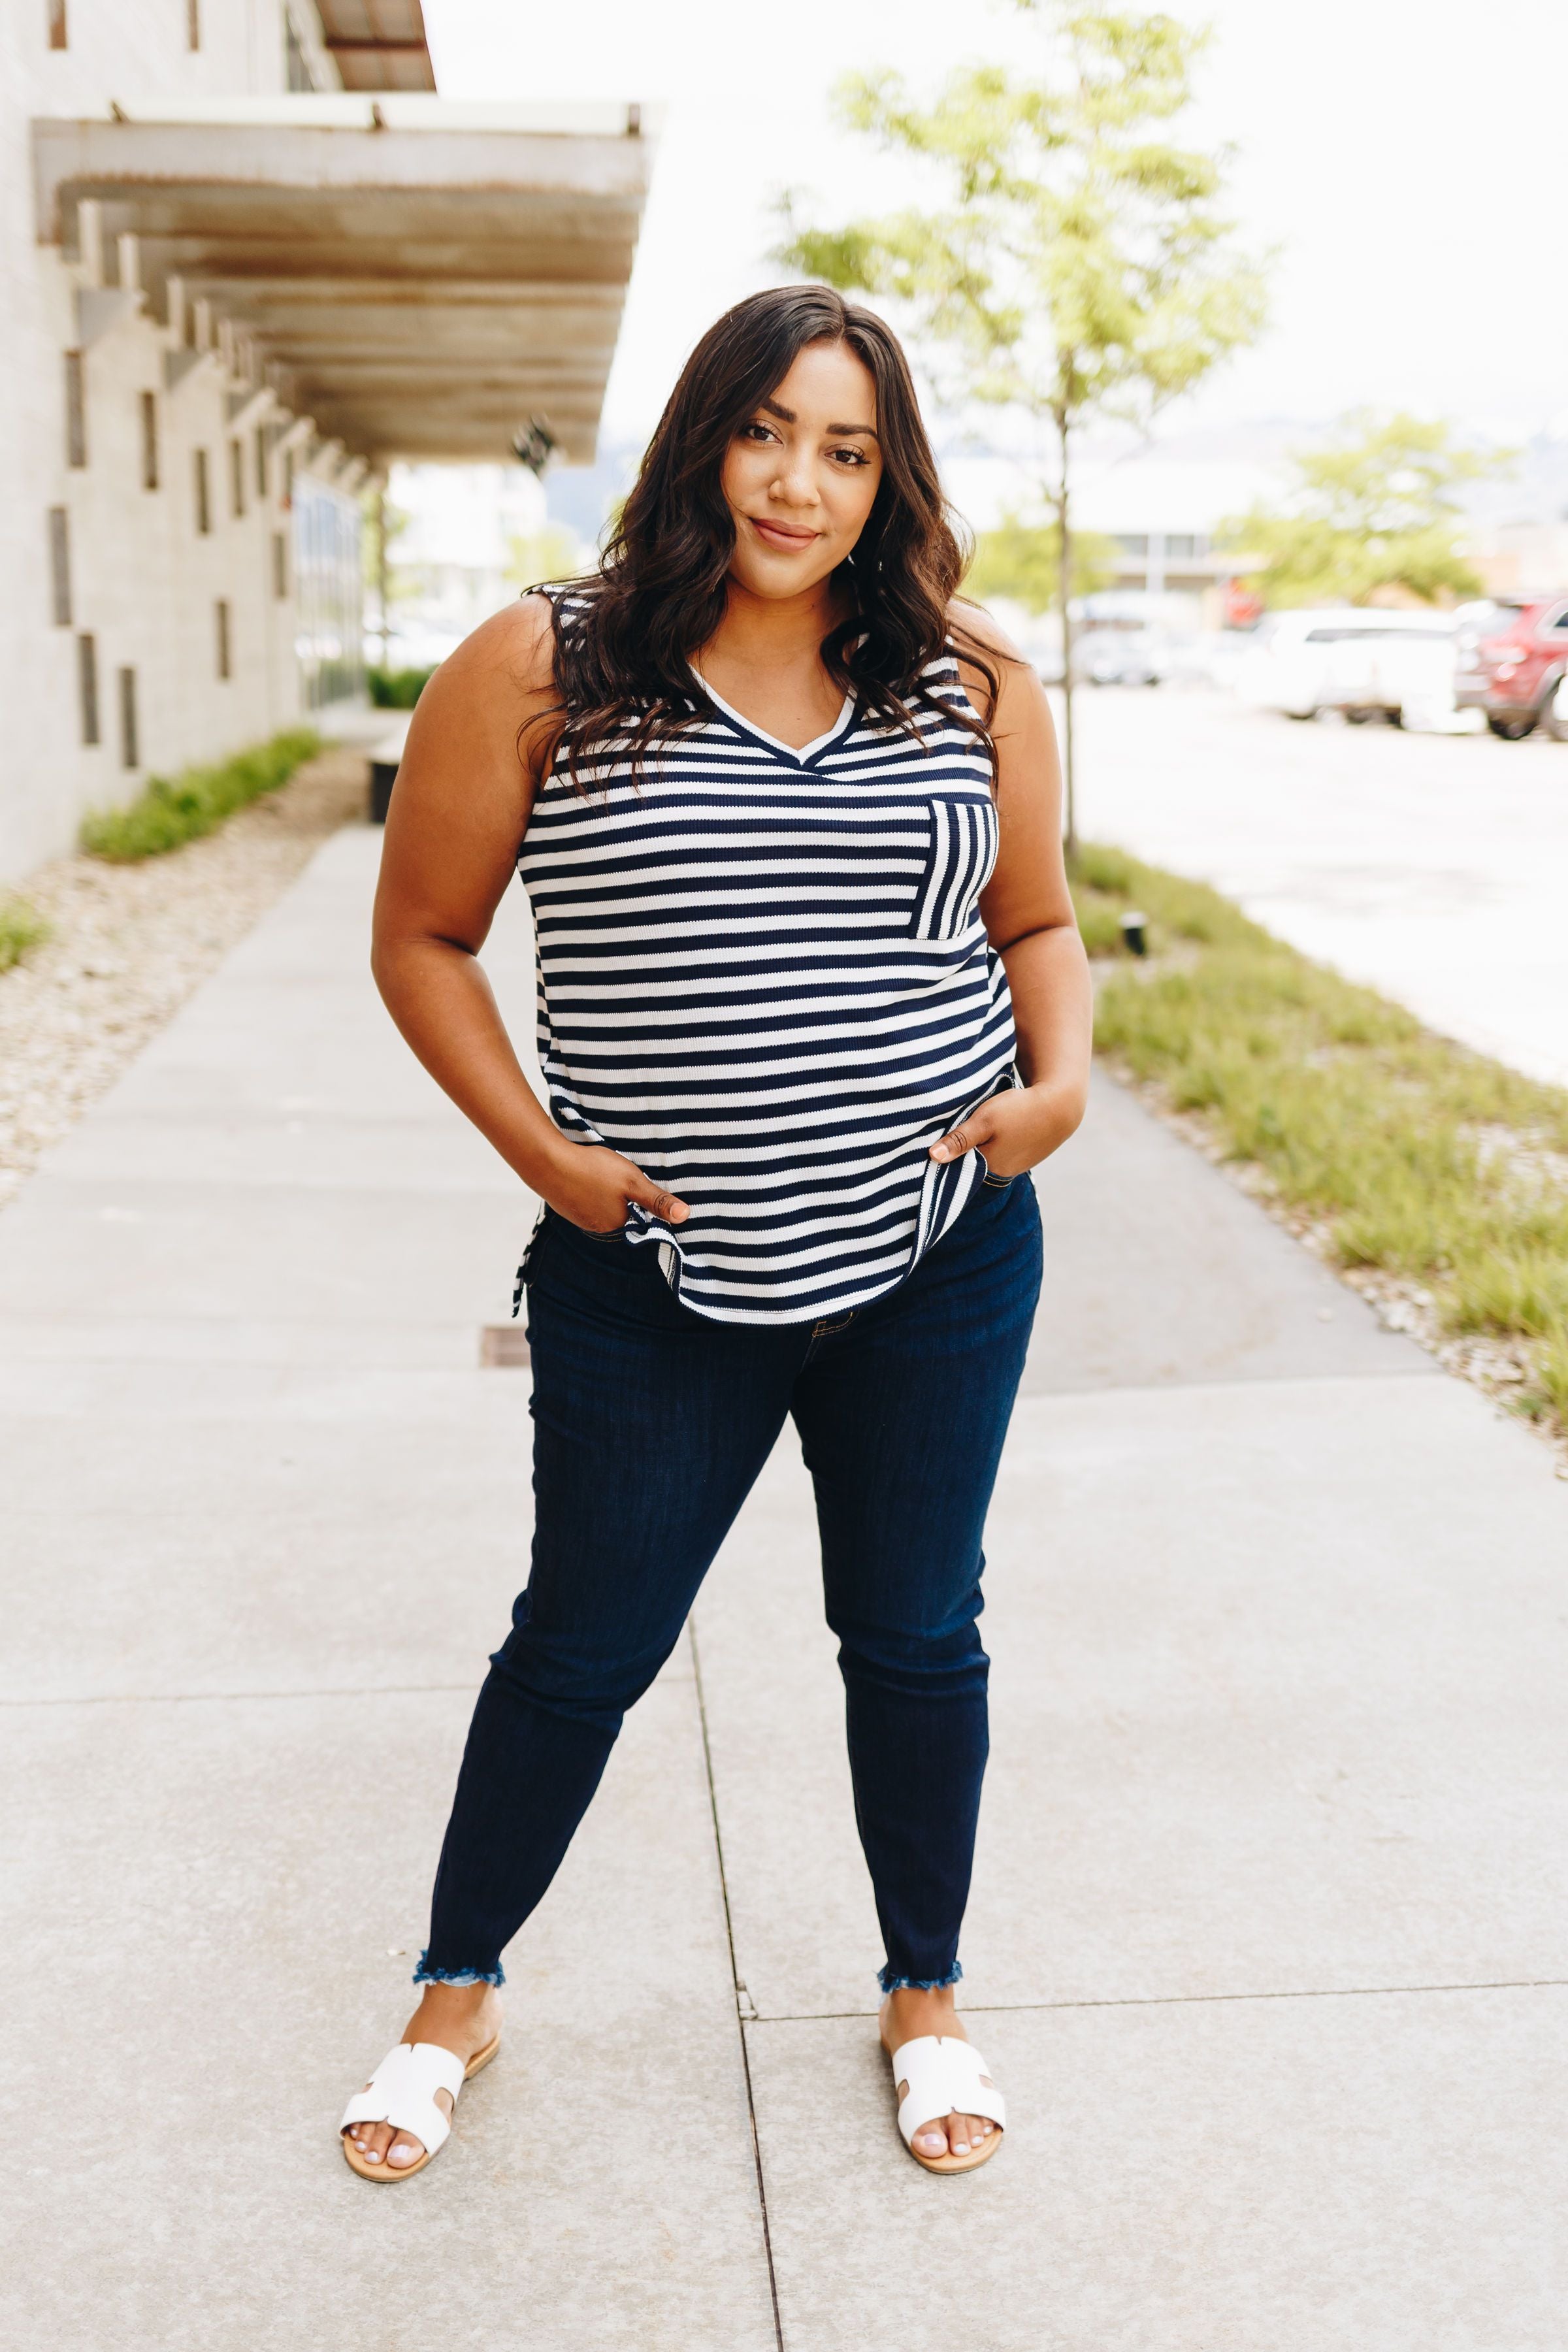
[[(649, 127), (651, 129), (651, 127)], [(425, 94), (33, 122), (40, 242), (383, 466), (592, 459), (649, 188), (630, 108)]]

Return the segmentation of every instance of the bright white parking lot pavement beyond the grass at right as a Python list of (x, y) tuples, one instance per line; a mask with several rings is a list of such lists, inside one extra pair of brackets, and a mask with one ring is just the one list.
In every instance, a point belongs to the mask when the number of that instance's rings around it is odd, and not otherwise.
[(1074, 699), (1079, 833), (1239, 898), (1448, 1037), (1568, 1084), (1568, 743)]

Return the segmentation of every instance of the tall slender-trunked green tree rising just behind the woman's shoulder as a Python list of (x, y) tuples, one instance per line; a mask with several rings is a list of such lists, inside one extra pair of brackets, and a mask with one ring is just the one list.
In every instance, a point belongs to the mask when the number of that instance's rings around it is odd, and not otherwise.
[[(842, 85), (844, 120), (912, 158), (929, 209), (802, 226), (785, 200), (778, 259), (910, 315), (952, 407), (1023, 419), (1058, 529), (1067, 840), (1072, 774), (1072, 461), (1091, 419), (1147, 428), (1262, 322), (1262, 275), (1232, 242), (1222, 160), (1161, 132), (1192, 99), (1204, 35), (1166, 14), (1016, 0), (1039, 68), (954, 73), (919, 106), (896, 73)], [(1046, 461), (1046, 449), (1051, 459)]]

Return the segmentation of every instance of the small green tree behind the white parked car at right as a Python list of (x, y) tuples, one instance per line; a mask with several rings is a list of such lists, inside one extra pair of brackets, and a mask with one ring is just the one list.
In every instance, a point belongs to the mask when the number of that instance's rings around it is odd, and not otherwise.
[(1460, 485), (1500, 473), (1507, 449), (1467, 449), (1441, 421), (1403, 409), (1378, 419), (1354, 409), (1333, 442), (1298, 449), (1295, 482), (1279, 508), (1225, 524), (1253, 557), (1248, 588), (1265, 604), (1371, 604), (1403, 590), (1425, 604), (1481, 595), (1460, 555)]

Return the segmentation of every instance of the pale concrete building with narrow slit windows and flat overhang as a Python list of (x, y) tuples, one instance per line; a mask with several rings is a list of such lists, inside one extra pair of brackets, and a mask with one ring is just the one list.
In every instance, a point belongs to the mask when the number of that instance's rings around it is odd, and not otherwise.
[(588, 463), (637, 106), (449, 106), (418, 0), (0, 16), (0, 877), (360, 687), (393, 459)]

